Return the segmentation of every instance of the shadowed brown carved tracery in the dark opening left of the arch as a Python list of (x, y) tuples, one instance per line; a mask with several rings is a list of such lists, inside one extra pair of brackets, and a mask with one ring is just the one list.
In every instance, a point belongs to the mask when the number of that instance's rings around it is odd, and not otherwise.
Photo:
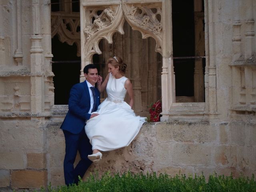
[(69, 18), (67, 16), (51, 17), (52, 38), (58, 34), (60, 42), (77, 46), (77, 56), (81, 56), (80, 40), (80, 18)]

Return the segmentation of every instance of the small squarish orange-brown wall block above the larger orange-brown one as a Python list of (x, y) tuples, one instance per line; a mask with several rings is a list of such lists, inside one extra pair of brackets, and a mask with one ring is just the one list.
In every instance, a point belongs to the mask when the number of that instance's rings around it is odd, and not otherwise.
[(45, 153), (28, 153), (27, 167), (33, 169), (46, 168), (46, 154)]

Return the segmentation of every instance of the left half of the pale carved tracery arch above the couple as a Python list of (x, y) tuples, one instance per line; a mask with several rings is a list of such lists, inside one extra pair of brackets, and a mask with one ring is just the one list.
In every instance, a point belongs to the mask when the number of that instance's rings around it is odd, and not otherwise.
[(122, 15), (121, 4), (108, 7), (85, 7), (84, 20), (84, 56), (85, 60), (90, 61), (92, 55), (102, 54), (98, 44), (102, 38), (108, 43), (112, 43), (112, 36), (115, 32), (124, 34), (123, 24), (124, 17)]

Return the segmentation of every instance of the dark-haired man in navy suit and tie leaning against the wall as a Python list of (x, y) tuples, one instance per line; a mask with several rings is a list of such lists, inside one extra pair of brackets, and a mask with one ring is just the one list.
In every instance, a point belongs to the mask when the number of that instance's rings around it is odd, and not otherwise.
[[(86, 80), (75, 84), (70, 90), (68, 100), (68, 113), (61, 125), (65, 136), (66, 154), (64, 158), (65, 184), (78, 184), (78, 176), (81, 178), (92, 164), (87, 156), (92, 154), (92, 146), (85, 134), (84, 126), (86, 121), (98, 114), (91, 114), (96, 111), (100, 104), (100, 92), (94, 88), (98, 81), (98, 70), (94, 64), (84, 67)], [(74, 168), (77, 151), (81, 160)]]

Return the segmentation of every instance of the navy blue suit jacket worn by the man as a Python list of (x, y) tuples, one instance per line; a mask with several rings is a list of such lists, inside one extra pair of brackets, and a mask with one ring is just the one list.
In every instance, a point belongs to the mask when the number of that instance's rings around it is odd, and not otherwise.
[[(95, 88), (96, 108), (100, 104), (100, 92)], [(60, 126), (73, 134), (78, 134), (85, 126), (86, 120), (90, 119), (90, 93), (86, 81), (75, 84), (70, 90), (68, 100), (68, 113)]]

